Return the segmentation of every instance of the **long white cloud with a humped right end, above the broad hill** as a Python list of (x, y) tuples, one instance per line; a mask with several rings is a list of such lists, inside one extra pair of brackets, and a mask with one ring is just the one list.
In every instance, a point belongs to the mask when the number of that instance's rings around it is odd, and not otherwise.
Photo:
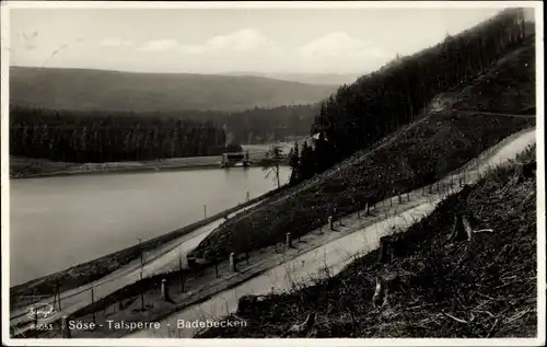
[(279, 46), (259, 31), (243, 28), (228, 35), (213, 36), (200, 45), (184, 45), (171, 38), (150, 41), (142, 45), (139, 50), (176, 50), (186, 55), (205, 55), (214, 53), (249, 53), (276, 48), (279, 49)]

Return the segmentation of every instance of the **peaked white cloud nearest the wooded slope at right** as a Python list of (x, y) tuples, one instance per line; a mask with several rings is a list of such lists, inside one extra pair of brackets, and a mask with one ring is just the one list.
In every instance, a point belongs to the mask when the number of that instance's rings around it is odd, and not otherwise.
[(370, 43), (353, 38), (344, 32), (330, 33), (299, 48), (298, 54), (306, 59), (337, 57), (386, 58), (393, 56)]

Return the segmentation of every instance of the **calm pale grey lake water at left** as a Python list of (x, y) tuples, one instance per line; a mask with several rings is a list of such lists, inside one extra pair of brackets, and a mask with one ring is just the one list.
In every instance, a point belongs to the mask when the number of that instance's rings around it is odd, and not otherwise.
[[(290, 169), (281, 167), (281, 184)], [(10, 287), (116, 252), (276, 187), (260, 167), (11, 180)]]

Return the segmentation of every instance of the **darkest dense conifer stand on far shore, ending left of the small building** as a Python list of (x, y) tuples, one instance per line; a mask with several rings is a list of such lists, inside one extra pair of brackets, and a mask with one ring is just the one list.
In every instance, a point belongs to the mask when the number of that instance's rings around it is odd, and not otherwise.
[(12, 107), (10, 153), (67, 162), (217, 155), (225, 134), (210, 122)]

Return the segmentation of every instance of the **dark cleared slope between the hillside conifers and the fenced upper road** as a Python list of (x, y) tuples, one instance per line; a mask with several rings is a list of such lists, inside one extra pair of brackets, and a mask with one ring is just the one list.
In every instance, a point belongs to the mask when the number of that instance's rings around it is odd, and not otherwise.
[(265, 247), (281, 242), (287, 232), (295, 236), (310, 232), (329, 215), (346, 215), (366, 203), (431, 184), (504, 137), (534, 125), (534, 116), (511, 116), (534, 106), (531, 43), (454, 91), (443, 109), (427, 108), (414, 124), (371, 149), (224, 223), (193, 254), (225, 257)]

